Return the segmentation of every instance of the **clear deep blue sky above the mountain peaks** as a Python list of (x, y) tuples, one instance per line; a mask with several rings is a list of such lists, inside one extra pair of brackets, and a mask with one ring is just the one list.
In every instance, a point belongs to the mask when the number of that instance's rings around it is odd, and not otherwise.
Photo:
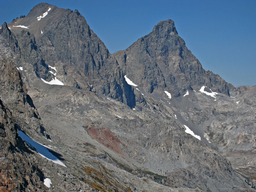
[[(27, 15), (38, 0), (0, 0), (0, 24)], [(178, 34), (205, 70), (233, 84), (256, 85), (255, 0), (45, 1), (77, 9), (110, 53), (126, 49), (172, 19)]]

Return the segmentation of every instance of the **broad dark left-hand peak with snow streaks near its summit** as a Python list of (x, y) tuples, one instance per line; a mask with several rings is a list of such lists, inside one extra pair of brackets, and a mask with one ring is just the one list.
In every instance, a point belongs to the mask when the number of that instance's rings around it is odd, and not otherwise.
[[(34, 38), (37, 54), (42, 55), (42, 65), (55, 67), (56, 71), (41, 68), (44, 70), (38, 75), (41, 79), (48, 82), (53, 79), (59, 84), (91, 90), (135, 106), (131, 86), (125, 81), (116, 59), (78, 10), (73, 12), (40, 3), (26, 17), (8, 26), (16, 36), (28, 31), (31, 39)], [(18, 41), (22, 45), (26, 40), (21, 37)]]

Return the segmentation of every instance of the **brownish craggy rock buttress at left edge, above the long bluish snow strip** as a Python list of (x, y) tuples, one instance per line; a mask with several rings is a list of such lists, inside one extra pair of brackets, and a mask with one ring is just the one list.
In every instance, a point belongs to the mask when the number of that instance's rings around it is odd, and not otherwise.
[[(50, 138), (46, 133), (42, 120), (27, 94), (27, 87), (21, 79), (21, 74), (10, 59), (0, 57), (0, 97), (12, 111), (12, 117), (22, 119), (39, 134)], [(31, 132), (30, 130), (26, 130)]]

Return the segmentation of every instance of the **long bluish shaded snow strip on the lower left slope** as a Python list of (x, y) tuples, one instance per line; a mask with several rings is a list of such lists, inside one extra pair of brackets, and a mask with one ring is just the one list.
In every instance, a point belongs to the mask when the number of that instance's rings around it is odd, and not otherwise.
[(45, 145), (42, 145), (41, 143), (38, 143), (31, 139), (29, 136), (27, 136), (25, 133), (23, 133), (21, 130), (19, 130), (18, 136), (25, 141), (28, 145), (31, 147), (34, 147), (36, 151), (44, 158), (57, 163), (59, 165), (62, 165), (66, 167), (64, 163), (62, 163), (57, 157), (55, 157), (46, 147)]

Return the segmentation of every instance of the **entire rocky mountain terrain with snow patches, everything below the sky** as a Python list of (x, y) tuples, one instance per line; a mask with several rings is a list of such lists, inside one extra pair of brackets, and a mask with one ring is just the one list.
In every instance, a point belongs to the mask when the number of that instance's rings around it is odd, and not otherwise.
[(47, 3), (0, 26), (0, 191), (255, 190), (256, 87), (205, 71), (172, 20), (109, 53)]

